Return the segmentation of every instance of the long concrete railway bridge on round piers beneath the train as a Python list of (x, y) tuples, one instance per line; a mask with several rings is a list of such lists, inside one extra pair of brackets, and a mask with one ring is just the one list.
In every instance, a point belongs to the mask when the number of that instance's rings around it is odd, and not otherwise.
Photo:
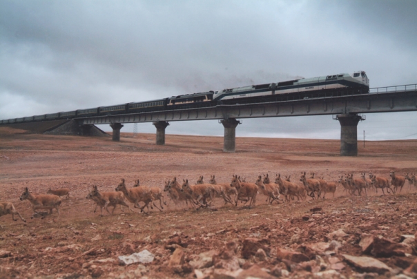
[[(75, 118), (81, 131), (95, 124), (110, 124), (113, 140), (120, 140), (120, 130), (126, 123), (152, 122), (156, 128), (156, 144), (165, 144), (165, 129), (169, 122), (218, 119), (224, 126), (224, 152), (235, 152), (235, 129), (238, 119), (332, 115), (340, 123), (340, 155), (358, 155), (358, 122), (365, 113), (390, 113), (417, 110), (417, 84), (371, 88), (369, 94), (337, 97), (291, 99), (280, 102), (217, 105), (204, 108), (162, 110), (154, 112)], [(81, 133), (83, 134), (83, 133)], [(86, 134), (86, 133), (84, 133)]]

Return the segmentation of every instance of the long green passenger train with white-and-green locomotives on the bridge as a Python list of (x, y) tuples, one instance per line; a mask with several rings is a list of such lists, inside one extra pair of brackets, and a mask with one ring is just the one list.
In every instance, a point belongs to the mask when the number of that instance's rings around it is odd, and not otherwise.
[(258, 84), (218, 91), (207, 91), (186, 95), (177, 95), (146, 102), (133, 102), (115, 106), (99, 106), (46, 115), (19, 117), (0, 120), (0, 124), (34, 122), (43, 120), (71, 119), (105, 115), (144, 113), (160, 110), (203, 108), (224, 104), (251, 104), (260, 102), (278, 102), (287, 99), (309, 99), (313, 97), (332, 97), (339, 95), (357, 95), (369, 93), (369, 79), (365, 71), (353, 74), (342, 73), (293, 79), (271, 84)]

